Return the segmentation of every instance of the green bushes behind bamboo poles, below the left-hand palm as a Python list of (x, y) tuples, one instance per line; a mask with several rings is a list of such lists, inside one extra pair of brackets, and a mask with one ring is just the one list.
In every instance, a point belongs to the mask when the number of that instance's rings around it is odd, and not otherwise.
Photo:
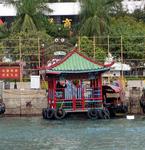
[(44, 31), (20, 32), (3, 41), (3, 51), (9, 53), (14, 61), (20, 59), (20, 50), (24, 61), (38, 61), (39, 48), (42, 44), (47, 47), (51, 42), (52, 38)]

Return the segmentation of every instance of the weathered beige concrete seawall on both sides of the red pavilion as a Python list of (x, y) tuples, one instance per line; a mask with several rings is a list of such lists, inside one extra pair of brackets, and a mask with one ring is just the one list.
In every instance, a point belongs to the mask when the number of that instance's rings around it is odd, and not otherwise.
[[(139, 100), (144, 81), (128, 81), (125, 88), (125, 102), (128, 103), (129, 113), (142, 114)], [(29, 82), (10, 83), (10, 89), (2, 90), (3, 102), (6, 105), (6, 115), (41, 115), (42, 108), (47, 107), (47, 95), (43, 89), (30, 89)]]

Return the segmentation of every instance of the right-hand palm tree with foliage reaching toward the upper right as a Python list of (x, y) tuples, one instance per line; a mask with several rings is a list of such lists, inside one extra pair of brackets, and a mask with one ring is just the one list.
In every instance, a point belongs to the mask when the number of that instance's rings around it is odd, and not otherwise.
[(122, 16), (123, 0), (80, 0), (80, 34), (102, 36), (108, 34), (111, 16)]

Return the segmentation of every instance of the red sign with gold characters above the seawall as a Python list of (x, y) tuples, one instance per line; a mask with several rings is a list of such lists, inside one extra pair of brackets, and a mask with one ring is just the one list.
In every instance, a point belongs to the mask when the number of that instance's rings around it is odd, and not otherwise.
[(0, 67), (0, 79), (19, 79), (20, 67)]

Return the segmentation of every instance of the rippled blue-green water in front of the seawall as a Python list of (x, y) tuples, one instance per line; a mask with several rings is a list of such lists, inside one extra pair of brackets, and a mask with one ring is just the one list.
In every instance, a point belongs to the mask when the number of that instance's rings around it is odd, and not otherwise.
[(0, 118), (0, 150), (145, 150), (145, 119)]

